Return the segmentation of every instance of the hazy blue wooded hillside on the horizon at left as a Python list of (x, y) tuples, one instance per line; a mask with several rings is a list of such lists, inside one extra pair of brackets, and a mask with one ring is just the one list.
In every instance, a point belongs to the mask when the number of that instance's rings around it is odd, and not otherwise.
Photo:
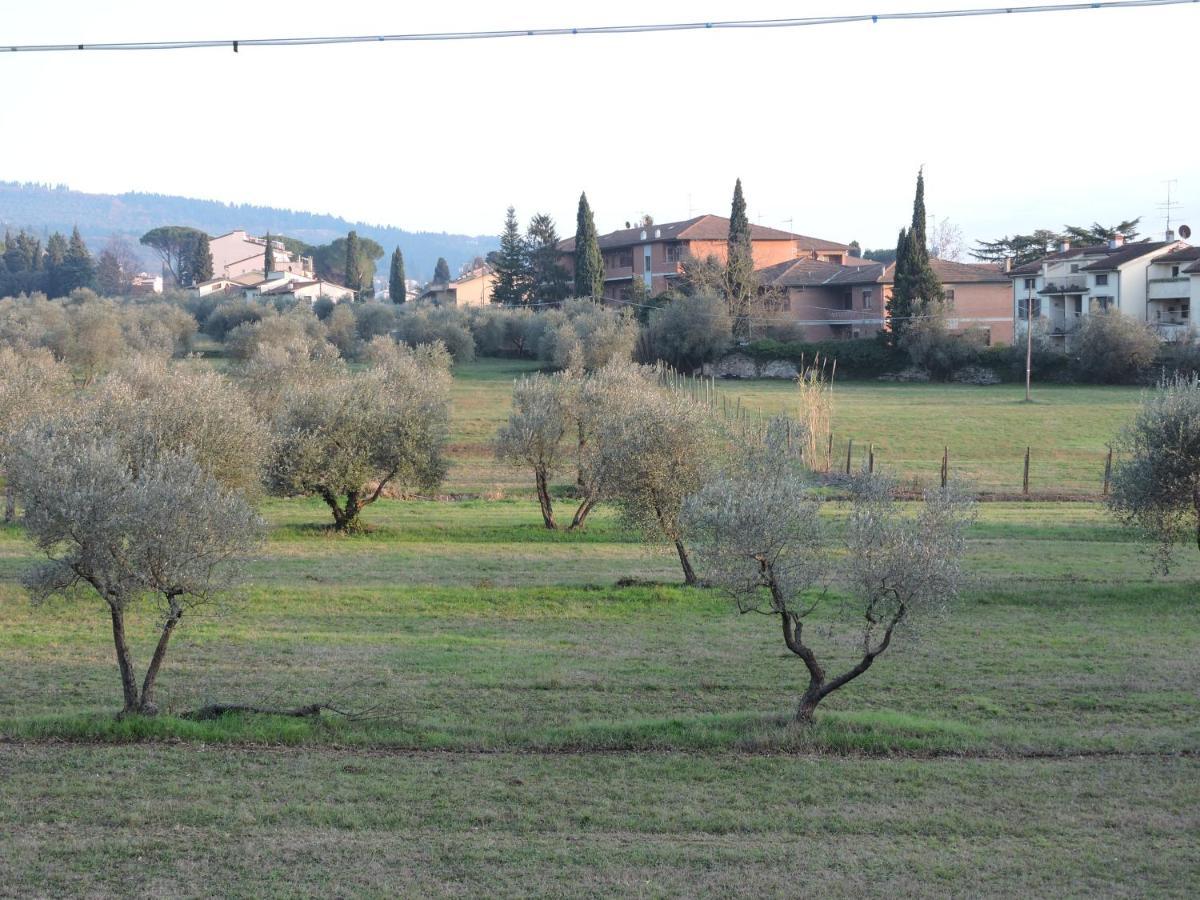
[[(26, 228), (43, 236), (54, 230), (70, 232), (78, 224), (92, 253), (113, 234), (134, 245), (138, 238), (161, 224), (184, 224), (209, 234), (245, 228), (252, 234), (299, 238), (307, 244), (328, 244), (352, 228), (377, 240), (386, 256), (378, 263), (379, 275), (388, 275), (392, 247), (404, 253), (408, 277), (428, 280), (438, 257), (445, 257), (457, 272), (476, 256), (486, 256), (499, 241), (492, 235), (406, 232), (390, 226), (347, 222), (337, 216), (271, 206), (197, 200), (157, 193), (83, 193), (64, 185), (34, 185), (0, 181), (0, 228)], [(2, 235), (0, 235), (2, 236)], [(146, 254), (148, 265), (154, 254)]]

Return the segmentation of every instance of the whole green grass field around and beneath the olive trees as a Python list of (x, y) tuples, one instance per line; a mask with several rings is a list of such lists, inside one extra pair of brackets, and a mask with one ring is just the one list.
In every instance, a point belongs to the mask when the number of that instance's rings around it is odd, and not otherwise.
[[(446, 492), (472, 499), (380, 502), (361, 538), (265, 504), (245, 596), (180, 628), (155, 720), (113, 719), (98, 601), (32, 607), (31, 550), (0, 529), (0, 895), (1194, 894), (1194, 553), (1156, 576), (1097, 504), (982, 504), (958, 613), (796, 730), (802, 666), (774, 622), (680, 587), (607, 510), (540, 527), (486, 449), (521, 370), (456, 380)], [(839, 433), (881, 460), (932, 473), (959, 436), (997, 484), (1014, 422), (1096, 456), (1136, 401), (838, 390)], [(139, 664), (154, 624), (137, 617)], [(822, 647), (845, 660), (844, 640)], [(174, 715), (211, 701), (364, 715)]]

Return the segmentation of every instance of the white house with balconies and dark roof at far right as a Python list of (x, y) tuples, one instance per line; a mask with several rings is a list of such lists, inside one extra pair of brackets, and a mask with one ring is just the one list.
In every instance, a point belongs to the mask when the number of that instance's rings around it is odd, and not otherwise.
[(1184, 325), (1188, 311), (1182, 292), (1189, 289), (1190, 274), (1183, 270), (1192, 260), (1166, 258), (1187, 250), (1192, 248), (1171, 233), (1160, 241), (1126, 242), (1118, 235), (1097, 246), (1064, 242), (1056, 252), (1009, 272), (1016, 330), (1024, 334), (1026, 317), (1032, 316), (1062, 340), (1093, 311), (1116, 310), (1162, 325), (1164, 336), (1170, 336)]

